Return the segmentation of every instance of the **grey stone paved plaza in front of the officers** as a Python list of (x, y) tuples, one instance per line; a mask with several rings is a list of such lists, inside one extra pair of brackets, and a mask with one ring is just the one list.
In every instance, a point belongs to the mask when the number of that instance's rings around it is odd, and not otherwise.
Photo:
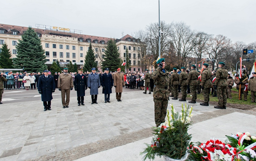
[[(122, 102), (110, 95), (111, 103), (77, 106), (76, 91), (71, 91), (69, 108), (62, 108), (60, 91), (51, 101), (51, 111), (43, 111), (37, 91), (4, 91), (0, 114), (0, 161), (2, 160), (141, 160), (139, 153), (150, 143), (154, 123), (153, 96), (142, 90), (125, 89)], [(37, 93), (37, 94), (36, 94)], [(99, 89), (102, 93), (102, 87)], [(18, 95), (16, 98), (14, 95)], [(7, 97), (11, 98), (7, 98)], [(24, 99), (22, 98), (24, 97)], [(184, 102), (183, 102), (184, 103)], [(256, 134), (256, 114), (233, 109), (218, 110), (212, 105), (192, 105), (192, 141), (224, 138), (237, 132)], [(176, 111), (178, 100), (169, 101)], [(170, 108), (170, 106), (168, 106)], [(123, 159), (122, 159), (123, 158)], [(163, 160), (162, 158), (157, 158)], [(156, 160), (157, 160), (156, 159)]]

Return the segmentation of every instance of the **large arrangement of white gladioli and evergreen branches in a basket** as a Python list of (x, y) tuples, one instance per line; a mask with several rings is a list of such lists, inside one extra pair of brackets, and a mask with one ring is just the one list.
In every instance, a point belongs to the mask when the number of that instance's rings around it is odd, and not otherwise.
[(181, 105), (181, 113), (178, 113), (171, 105), (171, 110), (167, 110), (167, 121), (160, 124), (159, 127), (154, 127), (154, 137), (152, 144), (146, 144), (142, 154), (145, 154), (143, 159), (154, 160), (155, 156), (166, 156), (173, 159), (187, 158), (187, 147), (191, 139), (191, 134), (187, 133), (190, 127), (191, 117), (193, 116), (192, 107), (185, 104)]

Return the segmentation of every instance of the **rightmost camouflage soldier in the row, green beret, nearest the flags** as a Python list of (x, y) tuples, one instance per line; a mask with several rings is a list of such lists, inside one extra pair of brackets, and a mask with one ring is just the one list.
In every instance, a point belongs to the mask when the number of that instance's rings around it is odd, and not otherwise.
[(218, 106), (214, 108), (226, 109), (227, 95), (226, 87), (228, 86), (228, 71), (224, 68), (225, 64), (219, 62), (219, 69), (216, 71), (216, 80), (214, 81), (214, 88), (217, 89)]

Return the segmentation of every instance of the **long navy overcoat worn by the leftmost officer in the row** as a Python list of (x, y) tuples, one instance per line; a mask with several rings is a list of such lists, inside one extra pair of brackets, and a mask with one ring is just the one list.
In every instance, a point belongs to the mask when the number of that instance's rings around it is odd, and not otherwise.
[(52, 90), (55, 90), (54, 78), (51, 75), (48, 75), (46, 79), (45, 75), (42, 75), (38, 79), (38, 91), (42, 91), (42, 101), (51, 101), (52, 100)]

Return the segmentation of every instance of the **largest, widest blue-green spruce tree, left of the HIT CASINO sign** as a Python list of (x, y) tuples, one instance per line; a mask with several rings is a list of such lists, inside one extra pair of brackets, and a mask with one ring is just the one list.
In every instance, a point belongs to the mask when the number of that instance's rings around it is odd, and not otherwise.
[(15, 67), (24, 67), (28, 72), (44, 71), (47, 68), (46, 56), (37, 33), (29, 27), (21, 37), (22, 40), (16, 45), (16, 58), (13, 58)]

